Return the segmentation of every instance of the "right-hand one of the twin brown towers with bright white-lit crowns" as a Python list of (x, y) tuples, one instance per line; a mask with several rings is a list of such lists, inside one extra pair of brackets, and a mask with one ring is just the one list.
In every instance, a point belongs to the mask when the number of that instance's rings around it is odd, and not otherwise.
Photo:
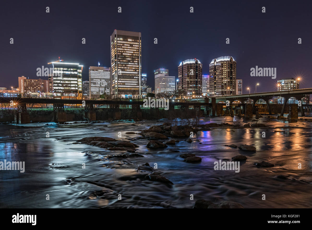
[(231, 56), (212, 59), (209, 64), (209, 94), (236, 94), (236, 61)]

